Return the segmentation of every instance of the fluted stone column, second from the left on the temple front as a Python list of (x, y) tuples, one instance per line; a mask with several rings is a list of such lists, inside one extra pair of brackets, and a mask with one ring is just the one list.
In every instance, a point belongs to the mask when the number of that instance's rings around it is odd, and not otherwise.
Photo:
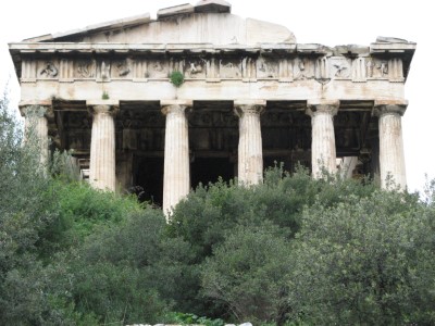
[(117, 101), (87, 102), (92, 113), (89, 183), (94, 188), (115, 190), (115, 123)]

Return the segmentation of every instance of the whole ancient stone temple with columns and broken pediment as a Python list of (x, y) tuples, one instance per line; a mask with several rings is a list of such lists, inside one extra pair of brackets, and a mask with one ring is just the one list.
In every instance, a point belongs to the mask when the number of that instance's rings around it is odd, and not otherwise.
[[(222, 0), (10, 43), (21, 109), (100, 189), (171, 210), (198, 183), (262, 180), (284, 162), (406, 187), (401, 116), (415, 43), (298, 43)], [(338, 160), (339, 159), (339, 160)]]

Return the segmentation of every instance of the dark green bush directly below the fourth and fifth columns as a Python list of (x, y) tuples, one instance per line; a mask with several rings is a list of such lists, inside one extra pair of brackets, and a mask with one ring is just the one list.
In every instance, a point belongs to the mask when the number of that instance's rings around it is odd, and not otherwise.
[(198, 261), (202, 261), (239, 224), (258, 225), (269, 220), (293, 238), (300, 228), (306, 205), (319, 201), (328, 206), (346, 201), (350, 195), (365, 197), (375, 189), (371, 184), (362, 186), (355, 180), (327, 177), (313, 180), (302, 167), (290, 176), (276, 166), (266, 171), (264, 183), (256, 187), (226, 184), (222, 179), (200, 185), (176, 206), (171, 234), (191, 243)]

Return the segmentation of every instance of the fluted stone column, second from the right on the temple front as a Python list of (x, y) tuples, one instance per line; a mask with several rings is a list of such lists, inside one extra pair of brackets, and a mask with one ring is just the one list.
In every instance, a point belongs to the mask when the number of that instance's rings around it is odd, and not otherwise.
[(322, 171), (335, 173), (337, 170), (333, 117), (338, 112), (337, 100), (312, 100), (307, 103), (307, 114), (311, 116), (311, 166), (314, 178)]

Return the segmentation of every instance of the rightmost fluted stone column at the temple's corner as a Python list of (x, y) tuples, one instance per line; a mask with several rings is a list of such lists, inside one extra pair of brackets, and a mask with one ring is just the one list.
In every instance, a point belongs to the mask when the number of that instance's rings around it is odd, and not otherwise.
[[(381, 186), (384, 189), (407, 187), (401, 116), (407, 101), (375, 101), (374, 113), (380, 118)], [(388, 179), (393, 178), (394, 184)]]

